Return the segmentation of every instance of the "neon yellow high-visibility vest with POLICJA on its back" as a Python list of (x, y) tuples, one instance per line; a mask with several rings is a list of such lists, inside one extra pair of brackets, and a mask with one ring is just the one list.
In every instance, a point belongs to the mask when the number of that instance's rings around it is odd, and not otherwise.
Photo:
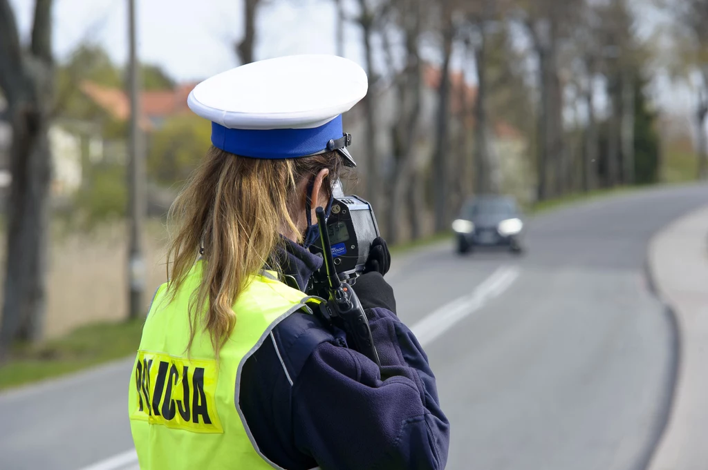
[[(195, 264), (176, 298), (157, 290), (130, 379), (128, 413), (142, 470), (278, 468), (257, 449), (239, 408), (241, 370), (273, 328), (307, 308), (299, 290), (267, 272), (253, 276), (234, 305), (236, 327), (215, 358), (210, 336), (196, 331), (185, 352), (188, 307), (199, 288)], [(201, 322), (200, 322), (201, 324)]]

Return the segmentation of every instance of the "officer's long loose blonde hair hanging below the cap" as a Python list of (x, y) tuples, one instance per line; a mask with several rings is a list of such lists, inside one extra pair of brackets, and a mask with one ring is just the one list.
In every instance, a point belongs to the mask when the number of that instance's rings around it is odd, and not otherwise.
[[(329, 169), (322, 187), (341, 170), (335, 153), (287, 160), (244, 158), (212, 146), (169, 211), (178, 226), (169, 245), (167, 269), (171, 300), (202, 249), (202, 281), (189, 305), (190, 351), (198, 329), (210, 334), (217, 357), (236, 326), (232, 309), (253, 274), (268, 265), (282, 233), (298, 233), (293, 211), (302, 208), (302, 181)], [(329, 195), (329, 194), (328, 194)], [(298, 240), (301, 241), (301, 240)], [(170, 272), (171, 271), (171, 272)]]

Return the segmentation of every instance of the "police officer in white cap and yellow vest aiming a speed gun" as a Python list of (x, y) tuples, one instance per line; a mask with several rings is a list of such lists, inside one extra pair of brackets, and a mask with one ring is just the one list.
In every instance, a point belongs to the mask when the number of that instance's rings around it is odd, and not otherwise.
[(307, 55), (241, 66), (190, 94), (213, 145), (171, 208), (170, 280), (130, 381), (141, 469), (445, 467), (449, 423), (396, 317), (385, 243), (353, 286), (381, 368), (304, 293), (321, 266), (307, 250), (314, 208), (355, 165), (341, 114), (366, 91), (352, 61)]

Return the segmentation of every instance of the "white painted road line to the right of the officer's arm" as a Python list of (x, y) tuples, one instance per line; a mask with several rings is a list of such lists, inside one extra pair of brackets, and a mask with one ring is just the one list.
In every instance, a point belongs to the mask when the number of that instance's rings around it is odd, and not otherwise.
[(479, 284), (472, 293), (463, 295), (435, 310), (411, 327), (422, 346), (445, 333), (455, 323), (479, 310), (486, 302), (508, 289), (520, 274), (518, 266), (501, 266)]

